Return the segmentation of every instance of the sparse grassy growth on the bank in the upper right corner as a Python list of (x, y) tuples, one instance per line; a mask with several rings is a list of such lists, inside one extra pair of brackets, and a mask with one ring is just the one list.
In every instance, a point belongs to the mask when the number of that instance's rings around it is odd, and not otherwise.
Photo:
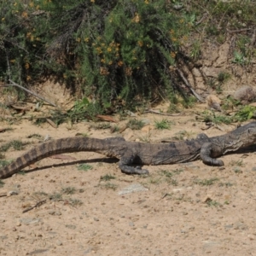
[[(196, 27), (193, 30), (194, 37), (198, 34), (189, 48), (190, 55), (198, 58), (201, 53), (201, 45), (204, 40), (213, 40), (217, 44), (223, 44), (229, 33), (236, 33), (233, 41), (233, 62), (241, 66), (251, 63), (256, 56), (253, 42), (253, 26), (256, 23), (256, 5), (253, 0), (247, 1), (189, 1), (186, 5), (190, 23)], [(202, 11), (204, 14), (202, 14)], [(194, 21), (193, 21), (194, 20)], [(228, 27), (227, 27), (228, 24)]]

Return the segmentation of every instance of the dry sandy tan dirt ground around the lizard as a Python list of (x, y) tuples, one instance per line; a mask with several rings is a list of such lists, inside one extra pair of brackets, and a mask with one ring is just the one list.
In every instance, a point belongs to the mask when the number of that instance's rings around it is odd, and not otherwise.
[[(143, 114), (138, 119), (150, 125), (141, 131), (128, 129), (122, 136), (157, 142), (184, 130), (187, 137), (195, 137), (204, 127), (192, 112), (177, 117)], [(162, 119), (175, 124), (170, 130), (154, 129), (154, 121)], [(98, 138), (120, 136), (90, 125), (55, 129), (30, 121), (2, 122), (2, 128), (13, 130), (1, 133), (1, 144), (14, 139), (29, 143), (22, 151), (5, 153), (7, 160), (14, 160), (38, 144), (37, 138), (28, 138), (34, 133), (52, 138), (78, 132)], [(225, 127), (226, 131), (234, 128)], [(217, 128), (204, 132), (224, 134)], [(222, 156), (224, 168), (205, 166), (201, 160), (146, 166), (147, 177), (127, 176), (115, 160), (101, 154), (69, 155), (70, 160), (40, 160), (26, 168), (32, 172), (3, 180), (0, 194), (17, 191), (18, 195), (0, 197), (1, 255), (256, 255), (253, 150)], [(92, 168), (79, 171), (81, 161)], [(115, 178), (104, 181), (106, 175)], [(119, 195), (132, 184), (146, 190)], [(40, 201), (44, 203), (22, 213)]]

